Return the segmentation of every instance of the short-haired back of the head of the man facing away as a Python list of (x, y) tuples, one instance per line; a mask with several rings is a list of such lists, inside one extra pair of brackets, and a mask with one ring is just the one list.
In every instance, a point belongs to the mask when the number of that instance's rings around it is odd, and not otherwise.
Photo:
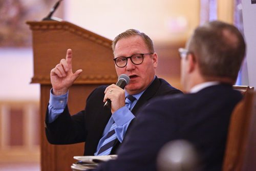
[(214, 21), (198, 27), (188, 41), (201, 75), (211, 78), (229, 78), (236, 81), (243, 58), (245, 41), (233, 25)]

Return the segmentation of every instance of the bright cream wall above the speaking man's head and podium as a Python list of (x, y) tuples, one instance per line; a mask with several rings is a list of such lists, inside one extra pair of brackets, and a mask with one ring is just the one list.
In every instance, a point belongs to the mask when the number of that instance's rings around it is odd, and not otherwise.
[(136, 28), (157, 42), (185, 39), (199, 24), (199, 0), (67, 0), (65, 19), (113, 39)]

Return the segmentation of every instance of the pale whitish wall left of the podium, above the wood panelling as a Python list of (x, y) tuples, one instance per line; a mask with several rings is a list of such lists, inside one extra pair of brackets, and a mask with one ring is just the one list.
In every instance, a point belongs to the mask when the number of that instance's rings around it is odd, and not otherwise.
[(0, 100), (39, 100), (33, 76), (32, 49), (0, 48)]

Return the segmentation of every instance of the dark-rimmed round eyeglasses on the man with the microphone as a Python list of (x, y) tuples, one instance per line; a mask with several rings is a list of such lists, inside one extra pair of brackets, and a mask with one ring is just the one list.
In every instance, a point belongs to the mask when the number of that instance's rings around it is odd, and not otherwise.
[(113, 59), (116, 66), (123, 68), (127, 65), (127, 60), (130, 58), (134, 65), (140, 65), (143, 62), (144, 55), (152, 55), (153, 53), (136, 53), (129, 57), (120, 56)]

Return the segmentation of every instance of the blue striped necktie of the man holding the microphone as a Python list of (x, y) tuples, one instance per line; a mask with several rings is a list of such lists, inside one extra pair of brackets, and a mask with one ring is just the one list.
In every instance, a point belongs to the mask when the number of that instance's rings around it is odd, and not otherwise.
[[(125, 105), (127, 108), (131, 108), (131, 103), (135, 100), (136, 98), (133, 97), (132, 95), (128, 95), (125, 99)], [(104, 142), (102, 143), (102, 146), (99, 149), (98, 156), (103, 156), (103, 155), (109, 155), (111, 153), (111, 150), (114, 146), (114, 143), (116, 142), (117, 136), (115, 133), (115, 127), (116, 123), (111, 125), (110, 131), (108, 132), (108, 135), (106, 135), (106, 138)]]

